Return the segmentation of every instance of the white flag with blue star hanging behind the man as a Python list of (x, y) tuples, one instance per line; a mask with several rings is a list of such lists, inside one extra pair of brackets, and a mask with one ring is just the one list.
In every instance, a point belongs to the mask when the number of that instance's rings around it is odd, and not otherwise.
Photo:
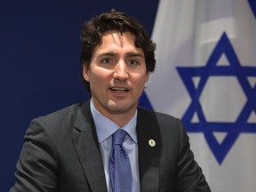
[(182, 119), (214, 192), (256, 191), (256, 9), (250, 0), (160, 0), (146, 94)]

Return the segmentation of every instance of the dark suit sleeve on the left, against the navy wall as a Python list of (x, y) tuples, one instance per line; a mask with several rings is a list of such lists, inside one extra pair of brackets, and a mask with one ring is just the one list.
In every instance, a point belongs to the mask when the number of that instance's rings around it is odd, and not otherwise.
[(28, 126), (10, 192), (57, 191), (57, 153), (45, 124), (36, 119)]

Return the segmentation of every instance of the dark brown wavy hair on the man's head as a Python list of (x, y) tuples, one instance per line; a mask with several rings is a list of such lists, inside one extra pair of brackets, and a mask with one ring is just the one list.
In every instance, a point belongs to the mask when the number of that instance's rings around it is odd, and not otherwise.
[[(155, 50), (156, 44), (152, 42), (145, 28), (138, 20), (129, 17), (124, 12), (105, 12), (86, 21), (82, 28), (81, 40), (82, 50), (80, 62), (86, 68), (90, 67), (92, 52), (100, 44), (102, 35), (109, 30), (131, 32), (135, 36), (135, 45), (140, 47), (145, 55), (146, 68), (148, 72), (153, 72), (156, 66)], [(83, 78), (84, 79), (84, 78)], [(89, 82), (84, 80), (87, 91), (91, 92)]]

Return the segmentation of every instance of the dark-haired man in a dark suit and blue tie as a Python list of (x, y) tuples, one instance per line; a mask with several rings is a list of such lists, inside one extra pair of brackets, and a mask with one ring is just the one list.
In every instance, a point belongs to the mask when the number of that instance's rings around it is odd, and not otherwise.
[[(85, 22), (81, 38), (92, 98), (29, 124), (10, 191), (210, 191), (180, 120), (138, 107), (156, 65), (156, 44), (140, 23), (103, 13)], [(126, 135), (120, 148), (129, 171), (113, 181), (109, 159), (118, 130)], [(125, 187), (114, 188), (116, 182)]]

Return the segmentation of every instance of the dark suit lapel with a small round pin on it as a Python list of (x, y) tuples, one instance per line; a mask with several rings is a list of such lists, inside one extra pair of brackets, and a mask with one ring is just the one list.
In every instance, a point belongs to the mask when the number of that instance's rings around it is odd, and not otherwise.
[(137, 133), (140, 166), (140, 191), (159, 191), (160, 132), (156, 116), (138, 108)]

